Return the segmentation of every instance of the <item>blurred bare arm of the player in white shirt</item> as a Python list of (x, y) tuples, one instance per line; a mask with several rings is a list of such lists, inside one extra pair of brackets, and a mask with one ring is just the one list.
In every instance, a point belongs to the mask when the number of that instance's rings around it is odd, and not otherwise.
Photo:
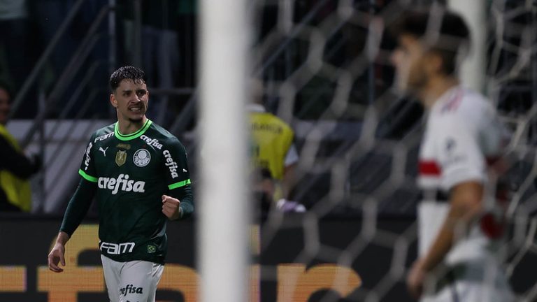
[(407, 278), (410, 292), (421, 296), (425, 275), (443, 261), (461, 231), (481, 213), (483, 186), (480, 182), (462, 182), (451, 191), (450, 210), (431, 248), (422, 259), (418, 259)]

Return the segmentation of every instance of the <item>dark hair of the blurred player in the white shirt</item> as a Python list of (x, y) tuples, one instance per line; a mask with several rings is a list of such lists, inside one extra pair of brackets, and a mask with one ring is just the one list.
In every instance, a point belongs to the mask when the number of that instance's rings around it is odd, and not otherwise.
[(450, 10), (406, 10), (388, 27), (395, 37), (415, 36), (441, 56), (443, 73), (450, 75), (457, 69), (459, 56), (470, 47), (470, 31), (463, 18)]

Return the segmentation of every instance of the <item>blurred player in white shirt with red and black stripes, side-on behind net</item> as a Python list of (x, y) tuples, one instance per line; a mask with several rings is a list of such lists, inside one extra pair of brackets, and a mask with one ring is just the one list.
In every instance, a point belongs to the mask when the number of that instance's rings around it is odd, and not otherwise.
[[(392, 27), (397, 87), (427, 110), (420, 148), (419, 257), (407, 285), (421, 301), (513, 301), (498, 259), (501, 220), (491, 213), (495, 166), (507, 131), (484, 96), (456, 71), (469, 45), (464, 20), (436, 7), (408, 12)], [(497, 173), (497, 171), (496, 171)]]

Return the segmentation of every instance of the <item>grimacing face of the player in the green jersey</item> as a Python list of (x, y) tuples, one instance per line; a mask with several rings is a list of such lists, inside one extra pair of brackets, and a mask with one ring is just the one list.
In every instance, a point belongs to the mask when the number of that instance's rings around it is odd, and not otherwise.
[(117, 119), (129, 122), (143, 122), (148, 101), (148, 87), (141, 80), (122, 80), (110, 95), (110, 103), (117, 109)]

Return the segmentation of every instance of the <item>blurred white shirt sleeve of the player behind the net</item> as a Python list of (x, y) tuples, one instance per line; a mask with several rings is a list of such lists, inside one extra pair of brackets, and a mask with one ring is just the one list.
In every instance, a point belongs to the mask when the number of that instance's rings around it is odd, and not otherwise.
[(435, 149), (443, 185), (451, 189), (461, 182), (484, 181), (486, 162), (478, 129), (456, 115), (441, 117), (435, 126)]

